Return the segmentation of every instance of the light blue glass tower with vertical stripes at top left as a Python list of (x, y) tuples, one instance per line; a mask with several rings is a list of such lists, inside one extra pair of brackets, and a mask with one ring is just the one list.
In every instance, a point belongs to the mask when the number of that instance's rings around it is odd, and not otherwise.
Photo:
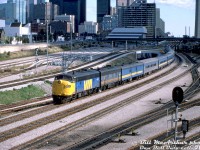
[[(14, 7), (13, 18), (22, 24), (26, 23), (26, 0), (8, 0), (8, 7)], [(10, 11), (10, 10), (7, 10)]]

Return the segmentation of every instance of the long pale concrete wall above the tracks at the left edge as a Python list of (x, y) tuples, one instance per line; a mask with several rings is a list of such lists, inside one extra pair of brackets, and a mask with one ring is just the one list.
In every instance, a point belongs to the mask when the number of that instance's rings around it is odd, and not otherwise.
[(0, 45), (0, 53), (4, 52), (16, 52), (21, 50), (31, 50), (35, 48), (47, 47), (46, 43), (42, 44), (22, 44), (22, 45)]

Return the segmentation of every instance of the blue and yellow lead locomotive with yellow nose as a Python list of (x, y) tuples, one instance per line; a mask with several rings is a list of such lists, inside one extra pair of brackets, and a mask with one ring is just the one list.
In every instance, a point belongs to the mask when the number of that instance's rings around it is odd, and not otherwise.
[(53, 101), (55, 104), (97, 91), (100, 86), (99, 71), (72, 71), (55, 77), (52, 85)]

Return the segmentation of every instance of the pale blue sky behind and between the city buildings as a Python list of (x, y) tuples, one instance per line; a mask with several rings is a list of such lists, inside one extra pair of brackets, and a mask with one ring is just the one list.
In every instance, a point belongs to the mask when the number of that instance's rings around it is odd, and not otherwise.
[[(4, 3), (7, 0), (0, 0)], [(115, 6), (116, 0), (111, 0), (111, 6)], [(161, 18), (165, 21), (165, 32), (182, 37), (185, 34), (194, 36), (195, 26), (195, 0), (147, 0), (148, 3), (156, 3), (160, 8)], [(87, 21), (96, 21), (96, 0), (87, 0)]]

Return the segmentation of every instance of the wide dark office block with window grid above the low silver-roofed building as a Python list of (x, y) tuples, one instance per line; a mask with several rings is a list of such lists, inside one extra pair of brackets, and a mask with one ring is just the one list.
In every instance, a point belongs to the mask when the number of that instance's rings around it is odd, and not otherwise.
[[(138, 5), (138, 3), (140, 3)], [(118, 9), (119, 27), (146, 27), (147, 37), (155, 37), (156, 4), (135, 1), (129, 7)]]

